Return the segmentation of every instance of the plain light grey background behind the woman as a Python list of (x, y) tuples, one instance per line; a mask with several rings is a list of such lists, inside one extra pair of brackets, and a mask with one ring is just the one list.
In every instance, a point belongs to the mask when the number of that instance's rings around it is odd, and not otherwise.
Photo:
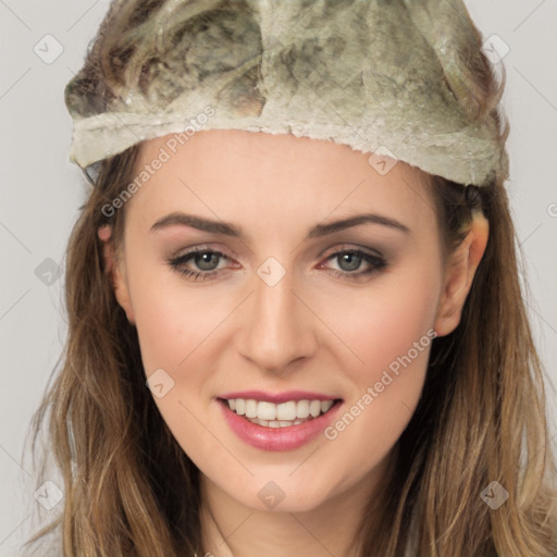
[[(466, 3), (483, 37), (500, 38), (496, 51), (509, 49), (499, 62), (507, 71), (504, 106), (511, 125), (508, 191), (535, 339), (555, 385), (557, 2)], [(67, 237), (86, 194), (79, 170), (67, 162), (71, 121), (63, 88), (81, 67), (108, 5), (108, 0), (0, 0), (0, 556), (18, 555), (22, 537), (49, 516), (34, 498), (38, 484), (23, 448), (64, 341), (63, 276), (57, 273), (63, 273)], [(48, 34), (54, 39), (45, 38)], [(52, 60), (57, 48), (63, 51)], [(547, 382), (555, 444), (553, 385)], [(49, 497), (54, 502), (55, 492)], [(35, 518), (37, 510), (41, 518)]]

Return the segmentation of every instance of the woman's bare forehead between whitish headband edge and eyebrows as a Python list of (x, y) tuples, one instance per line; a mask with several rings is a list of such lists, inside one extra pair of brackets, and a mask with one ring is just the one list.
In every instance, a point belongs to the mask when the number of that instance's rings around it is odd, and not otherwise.
[(141, 145), (135, 170), (149, 176), (132, 205), (151, 215), (188, 208), (227, 221), (273, 214), (292, 223), (359, 209), (413, 221), (434, 213), (421, 170), (388, 159), (377, 166), (372, 153), (287, 134), (211, 129), (182, 143), (158, 137)]

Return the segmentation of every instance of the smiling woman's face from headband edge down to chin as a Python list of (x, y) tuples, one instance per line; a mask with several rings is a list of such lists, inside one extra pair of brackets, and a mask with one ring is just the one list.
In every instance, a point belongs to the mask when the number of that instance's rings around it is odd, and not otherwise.
[(141, 148), (115, 275), (163, 419), (253, 509), (380, 481), (456, 324), (424, 175), (290, 135), (171, 139)]

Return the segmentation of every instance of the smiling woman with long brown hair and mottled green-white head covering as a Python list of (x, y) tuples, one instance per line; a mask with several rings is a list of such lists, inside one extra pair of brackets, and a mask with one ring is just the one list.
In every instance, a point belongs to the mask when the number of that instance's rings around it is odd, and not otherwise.
[(556, 554), (502, 89), (459, 2), (112, 4), (37, 416), (64, 555)]

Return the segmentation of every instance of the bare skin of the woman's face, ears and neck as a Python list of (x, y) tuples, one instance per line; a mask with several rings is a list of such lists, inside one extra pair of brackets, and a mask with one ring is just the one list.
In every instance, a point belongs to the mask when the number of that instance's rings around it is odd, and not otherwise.
[[(138, 172), (165, 140), (144, 144)], [(106, 245), (146, 375), (163, 369), (174, 382), (156, 403), (201, 470), (199, 557), (355, 556), (354, 529), (418, 405), (432, 336), (460, 320), (487, 222), (475, 219), (444, 261), (424, 174), (397, 162), (381, 175), (368, 158), (332, 141), (199, 132), (127, 201), (122, 257)], [(174, 212), (231, 223), (244, 237), (181, 224), (151, 231)], [(318, 224), (363, 213), (408, 231), (364, 223), (307, 237)], [(196, 246), (223, 257), (171, 267)], [(358, 265), (357, 256), (338, 255), (357, 249), (375, 259)], [(257, 273), (271, 257), (286, 273), (273, 286)], [(376, 392), (403, 355), (411, 362)], [(371, 404), (362, 403), (368, 387)], [(319, 392), (343, 399), (339, 416), (358, 401), (360, 412), (334, 438), (262, 450), (238, 438), (216, 401), (246, 389)], [(272, 509), (258, 496), (269, 482), (284, 494)]]

